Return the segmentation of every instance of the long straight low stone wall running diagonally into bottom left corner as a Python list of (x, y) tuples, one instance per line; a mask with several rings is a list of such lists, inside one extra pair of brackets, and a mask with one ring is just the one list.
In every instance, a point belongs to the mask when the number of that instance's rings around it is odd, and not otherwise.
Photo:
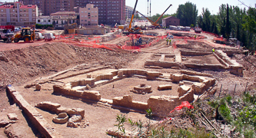
[(28, 102), (22, 97), (14, 87), (7, 87), (8, 93), (12, 96), (15, 103), (25, 112), (29, 120), (32, 121), (33, 126), (45, 137), (59, 138), (62, 137), (43, 117), (42, 114), (35, 110)]

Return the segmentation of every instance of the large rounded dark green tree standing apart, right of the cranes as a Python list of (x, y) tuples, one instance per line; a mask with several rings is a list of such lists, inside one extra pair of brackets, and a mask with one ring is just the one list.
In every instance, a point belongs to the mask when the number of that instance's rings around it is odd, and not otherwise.
[(191, 2), (186, 2), (185, 5), (178, 5), (176, 18), (180, 19), (181, 26), (195, 25), (197, 16), (197, 7)]

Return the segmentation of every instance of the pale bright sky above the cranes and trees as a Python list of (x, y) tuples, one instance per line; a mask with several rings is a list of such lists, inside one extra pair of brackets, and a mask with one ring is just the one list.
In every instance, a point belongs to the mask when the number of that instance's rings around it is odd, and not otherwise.
[[(149, 1), (149, 2), (148, 2)], [(245, 5), (251, 6), (255, 8), (256, 1), (255, 0), (240, 0)], [(132, 8), (135, 7), (136, 0), (126, 0), (125, 5), (131, 6)], [(178, 5), (184, 5), (186, 2), (191, 2), (195, 4), (198, 8), (198, 15), (201, 15), (202, 8), (208, 8), (211, 12), (211, 15), (217, 15), (218, 8), (221, 4), (227, 4), (228, 5), (234, 5), (238, 6), (240, 8), (247, 8), (246, 6), (242, 5), (241, 2), (238, 2), (238, 0), (194, 0), (194, 1), (188, 1), (188, 0), (176, 0), (176, 1), (170, 1), (170, 0), (151, 0), (151, 16), (159, 14), (161, 15), (166, 8), (171, 4), (172, 6), (168, 9), (168, 11), (165, 12), (165, 14), (173, 14), (177, 11)], [(149, 5), (150, 0), (138, 0), (138, 4), (136, 7), (137, 11), (140, 11), (143, 15), (149, 16)]]

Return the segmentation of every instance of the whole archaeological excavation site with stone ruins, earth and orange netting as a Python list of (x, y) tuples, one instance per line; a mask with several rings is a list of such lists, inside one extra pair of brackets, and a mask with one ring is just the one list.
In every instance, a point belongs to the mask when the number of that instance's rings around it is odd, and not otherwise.
[(233, 137), (211, 101), (255, 91), (255, 56), (206, 32), (147, 32), (0, 46), (0, 137)]

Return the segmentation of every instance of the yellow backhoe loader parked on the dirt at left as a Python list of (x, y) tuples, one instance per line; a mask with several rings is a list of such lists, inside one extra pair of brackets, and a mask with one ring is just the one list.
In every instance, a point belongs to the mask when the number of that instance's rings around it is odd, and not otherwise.
[[(33, 30), (32, 30), (33, 29)], [(12, 41), (18, 43), (18, 41), (23, 40), (25, 42), (35, 41), (35, 25), (33, 28), (22, 28), (21, 34), (16, 34)]]

